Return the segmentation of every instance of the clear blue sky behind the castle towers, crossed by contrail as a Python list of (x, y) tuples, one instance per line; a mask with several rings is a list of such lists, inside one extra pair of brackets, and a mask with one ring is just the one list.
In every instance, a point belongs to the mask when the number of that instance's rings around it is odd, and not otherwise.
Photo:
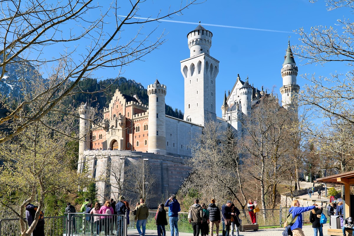
[[(118, 10), (119, 15), (126, 15), (126, 6), (124, 5), (126, 2), (119, 1), (119, 4), (123, 4), (122, 8)], [(170, 5), (171, 10), (175, 10), (180, 4), (181, 1), (176, 0), (146, 0), (140, 5), (138, 14), (140, 17), (155, 17), (160, 9), (162, 10), (161, 14), (164, 14)], [(307, 0), (206, 0), (185, 9), (182, 15), (168, 18), (172, 21), (194, 22), (195, 24), (154, 22), (143, 25), (141, 32), (145, 35), (157, 27), (152, 35), (152, 40), (164, 32), (167, 41), (159, 49), (146, 55), (142, 59), (143, 61), (135, 61), (125, 66), (121, 76), (134, 79), (142, 83), (145, 88), (158, 78), (161, 83), (167, 85), (166, 104), (183, 111), (184, 88), (180, 61), (189, 58), (187, 34), (201, 21), (201, 25), (213, 33), (210, 55), (220, 61), (219, 73), (216, 78), (216, 111), (217, 115), (221, 116), (219, 108), (222, 105), (224, 91), (232, 89), (237, 74), (240, 74), (242, 80), (245, 80), (248, 75), (250, 84), (258, 89), (262, 85), (268, 91), (275, 87), (274, 92), (280, 95), (279, 88), (282, 86), (280, 70), (284, 62), (288, 37), (290, 36), (291, 45), (299, 43), (298, 35), (293, 33), (293, 30), (303, 27), (309, 31), (310, 27), (315, 25), (335, 26), (336, 20), (343, 18), (343, 16), (349, 17), (345, 9), (327, 11), (324, 1), (310, 3)], [(127, 26), (122, 32), (121, 41), (129, 39), (137, 29), (136, 25)], [(298, 58), (295, 60), (299, 67), (297, 83), (300, 87), (308, 83), (300, 76), (304, 73), (327, 76), (335, 70), (346, 72), (346, 68), (340, 64), (302, 65), (304, 62)], [(96, 71), (96, 77), (112, 78), (118, 76), (118, 73), (118, 68), (101, 69)]]

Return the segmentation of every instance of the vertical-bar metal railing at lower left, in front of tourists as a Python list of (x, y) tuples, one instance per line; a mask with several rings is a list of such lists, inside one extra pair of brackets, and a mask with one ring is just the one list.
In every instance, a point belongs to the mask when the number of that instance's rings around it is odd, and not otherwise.
[[(46, 236), (127, 236), (127, 216), (121, 214), (66, 213), (44, 217)], [(1, 219), (0, 236), (21, 235), (19, 219)]]

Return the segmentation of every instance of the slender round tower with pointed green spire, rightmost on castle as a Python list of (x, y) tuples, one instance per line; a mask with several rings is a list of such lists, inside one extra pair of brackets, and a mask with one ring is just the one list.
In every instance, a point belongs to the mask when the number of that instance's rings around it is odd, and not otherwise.
[(288, 109), (292, 107), (297, 111), (296, 98), (299, 92), (299, 85), (296, 84), (297, 66), (290, 48), (290, 40), (284, 57), (283, 67), (281, 69), (281, 77), (283, 78), (283, 86), (280, 88), (281, 104)]

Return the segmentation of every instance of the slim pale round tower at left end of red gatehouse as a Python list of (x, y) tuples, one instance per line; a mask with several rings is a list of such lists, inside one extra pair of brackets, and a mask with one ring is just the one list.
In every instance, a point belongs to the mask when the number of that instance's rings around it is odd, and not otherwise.
[(93, 108), (87, 105), (79, 107), (79, 162), (78, 162), (78, 172), (82, 173), (85, 168), (84, 151), (90, 149), (90, 128), (91, 120), (93, 116)]

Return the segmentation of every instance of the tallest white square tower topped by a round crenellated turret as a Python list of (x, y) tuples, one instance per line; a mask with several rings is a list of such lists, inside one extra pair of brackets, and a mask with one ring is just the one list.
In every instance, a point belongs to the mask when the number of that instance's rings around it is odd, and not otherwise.
[(181, 61), (184, 77), (184, 120), (201, 124), (207, 119), (216, 120), (215, 79), (219, 61), (210, 54), (213, 34), (198, 25), (188, 33), (190, 57)]

